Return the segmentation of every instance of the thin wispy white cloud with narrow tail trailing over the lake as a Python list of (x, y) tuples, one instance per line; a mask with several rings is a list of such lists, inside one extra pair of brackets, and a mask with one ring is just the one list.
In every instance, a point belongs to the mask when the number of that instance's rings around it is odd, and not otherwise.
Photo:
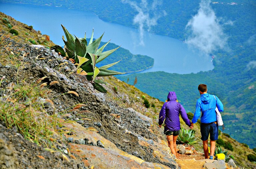
[(153, 0), (151, 5), (146, 0), (141, 0), (139, 4), (130, 0), (121, 0), (121, 2), (129, 4), (138, 12), (133, 18), (133, 23), (139, 26), (139, 44), (144, 45), (144, 29), (147, 28), (147, 31), (150, 31), (152, 26), (157, 25), (157, 20), (166, 15), (165, 11), (157, 10), (157, 7), (162, 4), (162, 0)]

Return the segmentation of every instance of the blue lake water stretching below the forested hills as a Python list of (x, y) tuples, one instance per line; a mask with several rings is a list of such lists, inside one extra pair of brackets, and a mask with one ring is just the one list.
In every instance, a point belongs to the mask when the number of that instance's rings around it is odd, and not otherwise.
[(111, 39), (112, 43), (121, 45), (133, 54), (154, 58), (154, 66), (143, 72), (165, 71), (187, 74), (213, 69), (210, 56), (188, 47), (180, 40), (145, 32), (145, 45), (139, 45), (140, 36), (137, 29), (104, 22), (88, 11), (1, 2), (0, 11), (28, 26), (33, 25), (35, 30), (49, 35), (54, 43), (61, 46), (64, 45), (61, 24), (77, 37), (84, 37), (86, 32), (87, 38), (90, 38), (93, 28), (94, 38), (100, 37), (105, 32), (103, 42)]

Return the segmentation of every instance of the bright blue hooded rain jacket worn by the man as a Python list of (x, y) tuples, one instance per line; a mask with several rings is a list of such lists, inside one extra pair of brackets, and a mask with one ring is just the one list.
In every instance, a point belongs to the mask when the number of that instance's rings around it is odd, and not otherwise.
[(196, 102), (196, 111), (194, 114), (194, 117), (192, 119), (192, 123), (196, 123), (198, 118), (201, 115), (201, 123), (212, 123), (217, 121), (215, 108), (219, 109), (220, 112), (223, 112), (223, 104), (219, 100), (217, 96), (214, 98), (213, 95), (210, 95), (208, 93), (202, 94), (200, 99)]

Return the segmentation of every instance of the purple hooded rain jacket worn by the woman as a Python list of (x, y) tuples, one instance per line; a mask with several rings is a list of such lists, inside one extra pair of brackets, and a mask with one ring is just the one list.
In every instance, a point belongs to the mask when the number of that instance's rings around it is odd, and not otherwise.
[(187, 113), (183, 106), (176, 102), (177, 96), (175, 92), (169, 92), (167, 96), (167, 102), (164, 103), (159, 114), (159, 125), (162, 125), (165, 119), (164, 132), (180, 130), (180, 118), (188, 125), (191, 126), (191, 122), (188, 119)]

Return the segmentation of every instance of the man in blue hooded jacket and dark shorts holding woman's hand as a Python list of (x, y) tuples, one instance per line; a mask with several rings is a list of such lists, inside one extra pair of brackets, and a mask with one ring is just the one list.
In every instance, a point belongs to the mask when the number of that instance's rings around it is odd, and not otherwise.
[(210, 134), (210, 159), (213, 159), (215, 151), (215, 141), (218, 139), (218, 123), (216, 118), (216, 106), (220, 112), (223, 112), (223, 104), (217, 96), (207, 93), (207, 86), (200, 84), (198, 86), (200, 92), (200, 99), (196, 102), (196, 111), (191, 123), (191, 129), (194, 127), (194, 123), (197, 122), (201, 112), (201, 140), (203, 140), (204, 156), (207, 159), (209, 156), (208, 150), (208, 137)]

